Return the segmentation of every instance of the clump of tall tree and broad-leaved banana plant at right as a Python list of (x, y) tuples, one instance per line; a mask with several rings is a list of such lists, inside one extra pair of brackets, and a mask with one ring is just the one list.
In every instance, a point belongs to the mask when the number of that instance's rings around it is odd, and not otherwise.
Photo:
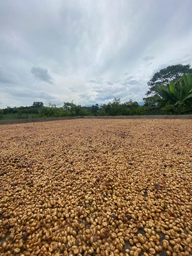
[(182, 64), (156, 72), (148, 81), (150, 89), (146, 93), (148, 97), (143, 98), (144, 107), (150, 113), (191, 114), (191, 74), (190, 65)]

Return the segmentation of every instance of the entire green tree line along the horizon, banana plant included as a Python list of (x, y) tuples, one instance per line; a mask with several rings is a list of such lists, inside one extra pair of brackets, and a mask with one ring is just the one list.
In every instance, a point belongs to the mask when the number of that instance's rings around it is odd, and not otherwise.
[(115, 115), (172, 115), (192, 114), (192, 68), (190, 65), (172, 65), (156, 72), (148, 81), (149, 90), (144, 104), (129, 100), (121, 103), (114, 98), (107, 104), (81, 106), (73, 101), (63, 106), (33, 102), (32, 106), (0, 109), (0, 119), (44, 118), (61, 116), (115, 116)]

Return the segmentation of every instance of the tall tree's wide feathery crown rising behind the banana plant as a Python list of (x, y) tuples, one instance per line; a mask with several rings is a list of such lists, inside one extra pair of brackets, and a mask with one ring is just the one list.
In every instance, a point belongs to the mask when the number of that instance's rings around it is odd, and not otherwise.
[(166, 68), (162, 68), (159, 72), (156, 72), (154, 76), (148, 81), (150, 87), (146, 95), (159, 95), (159, 85), (167, 86), (171, 81), (177, 81), (182, 75), (190, 73), (192, 75), (192, 68), (190, 65), (172, 65)]

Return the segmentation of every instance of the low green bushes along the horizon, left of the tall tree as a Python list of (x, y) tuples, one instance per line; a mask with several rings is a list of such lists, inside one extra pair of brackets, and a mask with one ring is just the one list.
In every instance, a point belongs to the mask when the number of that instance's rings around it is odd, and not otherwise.
[(113, 99), (108, 104), (95, 104), (92, 106), (76, 105), (74, 102), (64, 102), (62, 107), (49, 104), (45, 107), (42, 102), (33, 102), (33, 106), (26, 107), (7, 107), (1, 109), (1, 119), (20, 119), (20, 118), (45, 118), (61, 116), (115, 116), (115, 115), (144, 115), (144, 108), (138, 102), (129, 100), (121, 103), (119, 98)]

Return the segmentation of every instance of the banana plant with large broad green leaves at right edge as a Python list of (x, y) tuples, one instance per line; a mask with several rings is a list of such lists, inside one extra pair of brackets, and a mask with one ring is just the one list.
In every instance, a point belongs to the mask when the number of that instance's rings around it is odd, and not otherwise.
[(168, 114), (192, 113), (192, 79), (188, 73), (169, 86), (160, 85), (157, 89), (162, 110)]

